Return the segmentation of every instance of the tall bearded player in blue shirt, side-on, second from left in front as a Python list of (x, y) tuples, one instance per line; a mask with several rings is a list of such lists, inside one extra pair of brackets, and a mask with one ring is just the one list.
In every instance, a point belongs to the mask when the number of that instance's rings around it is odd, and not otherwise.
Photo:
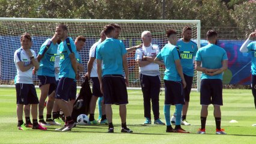
[(56, 131), (68, 131), (75, 127), (69, 110), (70, 83), (78, 78), (78, 65), (75, 58), (76, 46), (72, 38), (67, 36), (67, 26), (60, 24), (56, 26), (59, 44), (59, 82), (56, 89), (55, 102), (66, 116), (64, 127)]

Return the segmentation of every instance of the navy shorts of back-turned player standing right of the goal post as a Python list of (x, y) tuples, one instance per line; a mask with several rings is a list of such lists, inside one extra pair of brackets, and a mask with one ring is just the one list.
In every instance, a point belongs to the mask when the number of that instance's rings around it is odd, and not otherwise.
[(201, 105), (223, 105), (222, 101), (222, 80), (220, 79), (203, 79), (200, 88)]

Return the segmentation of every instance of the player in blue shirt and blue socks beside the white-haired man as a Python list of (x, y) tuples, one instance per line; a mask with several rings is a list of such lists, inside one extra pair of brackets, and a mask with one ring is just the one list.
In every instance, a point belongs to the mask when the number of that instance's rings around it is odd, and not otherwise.
[[(160, 53), (154, 59), (154, 62), (161, 62), (165, 64), (165, 106), (163, 112), (165, 113), (166, 132), (167, 133), (189, 133), (181, 128), (181, 110), (184, 104), (183, 88), (186, 88), (186, 81), (184, 79), (182, 66), (180, 64), (180, 50), (177, 44), (177, 32), (173, 29), (166, 31), (168, 44), (166, 44)], [(175, 128), (171, 127), (170, 108), (175, 105), (176, 121)]]

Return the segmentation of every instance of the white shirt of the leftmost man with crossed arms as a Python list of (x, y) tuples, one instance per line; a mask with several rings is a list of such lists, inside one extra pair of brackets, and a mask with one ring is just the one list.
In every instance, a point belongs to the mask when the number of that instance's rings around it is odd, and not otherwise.
[[(30, 49), (32, 52), (32, 55), (36, 56), (35, 51)], [(29, 65), (31, 64), (31, 59), (29, 58), (28, 54), (25, 52), (25, 50), (20, 47), (14, 52), (14, 63), (16, 66), (17, 70), (17, 75), (16, 75), (16, 83), (26, 83), (26, 84), (33, 84), (33, 79), (32, 79), (32, 70), (33, 67), (31, 67), (29, 70), (22, 72), (17, 65), (17, 62), (22, 61), (25, 62), (24, 65)]]

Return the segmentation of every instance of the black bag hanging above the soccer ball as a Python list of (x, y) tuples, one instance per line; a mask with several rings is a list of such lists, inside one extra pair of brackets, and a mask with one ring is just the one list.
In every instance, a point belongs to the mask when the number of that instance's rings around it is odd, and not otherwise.
[(91, 96), (93, 95), (91, 93), (88, 77), (84, 77), (84, 79), (85, 80), (81, 85), (82, 88), (80, 89), (78, 98), (76, 98), (71, 115), (73, 121), (75, 122), (79, 115), (89, 114)]

